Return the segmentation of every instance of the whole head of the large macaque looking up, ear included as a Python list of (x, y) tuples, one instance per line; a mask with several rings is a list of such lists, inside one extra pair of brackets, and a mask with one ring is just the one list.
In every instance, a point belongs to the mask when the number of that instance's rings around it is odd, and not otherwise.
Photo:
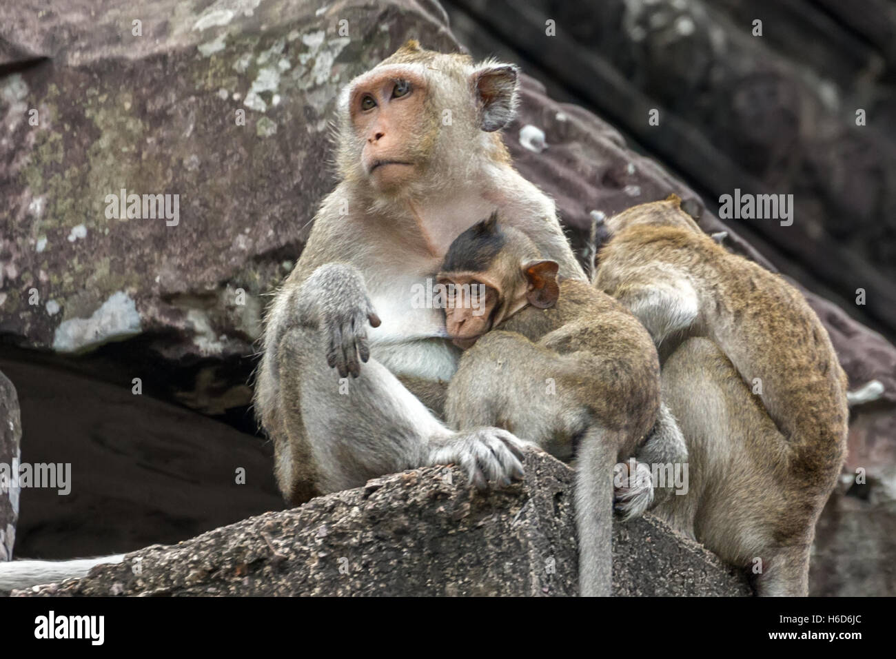
[[(515, 113), (518, 69), (410, 40), (340, 92), (341, 177), (381, 198), (421, 197), (467, 180), (471, 162), (510, 162), (500, 135)], [(445, 130), (444, 126), (451, 126)]]

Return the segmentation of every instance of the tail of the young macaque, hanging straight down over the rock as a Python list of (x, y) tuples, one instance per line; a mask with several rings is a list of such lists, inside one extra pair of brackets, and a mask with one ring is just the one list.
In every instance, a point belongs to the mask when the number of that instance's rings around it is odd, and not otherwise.
[(623, 439), (621, 432), (592, 428), (576, 458), (575, 517), (583, 597), (612, 594), (613, 466)]

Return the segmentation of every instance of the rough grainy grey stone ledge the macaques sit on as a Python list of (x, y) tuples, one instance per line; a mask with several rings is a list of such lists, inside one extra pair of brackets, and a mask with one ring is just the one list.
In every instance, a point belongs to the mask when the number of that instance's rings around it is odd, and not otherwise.
[[(526, 474), (485, 495), (456, 469), (392, 474), (13, 594), (576, 594), (573, 472), (530, 453)], [(617, 595), (750, 594), (742, 574), (650, 516), (616, 525), (613, 554)]]

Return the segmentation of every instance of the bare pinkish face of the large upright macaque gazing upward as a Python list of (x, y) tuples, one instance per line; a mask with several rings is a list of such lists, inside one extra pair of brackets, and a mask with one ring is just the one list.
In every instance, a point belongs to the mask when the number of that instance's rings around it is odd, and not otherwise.
[(409, 66), (374, 70), (354, 85), (349, 113), (361, 143), (361, 166), (376, 189), (389, 191), (418, 177), (432, 138), (426, 81)]

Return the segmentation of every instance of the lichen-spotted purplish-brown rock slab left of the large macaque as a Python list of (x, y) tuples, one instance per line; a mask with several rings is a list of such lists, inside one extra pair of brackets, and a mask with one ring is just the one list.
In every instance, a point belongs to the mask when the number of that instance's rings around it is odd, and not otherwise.
[[(164, 334), (153, 347), (171, 359), (251, 353), (261, 294), (333, 185), (337, 91), (410, 37), (456, 48), (428, 0), (5, 7), (0, 333), (60, 352)], [(108, 217), (122, 189), (179, 195), (177, 225)]]

